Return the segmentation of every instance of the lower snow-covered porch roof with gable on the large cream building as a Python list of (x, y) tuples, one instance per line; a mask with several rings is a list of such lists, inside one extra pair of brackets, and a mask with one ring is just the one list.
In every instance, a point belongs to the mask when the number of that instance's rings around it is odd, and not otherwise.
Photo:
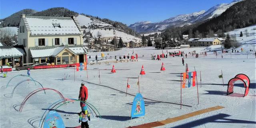
[(30, 53), (33, 58), (57, 56), (62, 50), (67, 48), (76, 55), (87, 54), (86, 49), (82, 45), (75, 46), (45, 46), (45, 47), (30, 47)]

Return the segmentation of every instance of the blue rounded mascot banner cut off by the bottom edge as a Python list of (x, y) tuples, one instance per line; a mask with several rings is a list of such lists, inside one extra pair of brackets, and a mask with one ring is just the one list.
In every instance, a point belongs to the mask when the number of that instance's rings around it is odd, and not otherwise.
[(44, 120), (44, 128), (66, 128), (61, 116), (56, 111), (50, 111)]

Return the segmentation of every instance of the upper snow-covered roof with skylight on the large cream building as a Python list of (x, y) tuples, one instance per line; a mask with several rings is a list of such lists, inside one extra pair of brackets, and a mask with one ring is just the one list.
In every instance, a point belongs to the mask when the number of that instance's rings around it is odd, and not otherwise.
[(26, 16), (24, 22), (32, 36), (81, 34), (80, 25), (71, 17)]

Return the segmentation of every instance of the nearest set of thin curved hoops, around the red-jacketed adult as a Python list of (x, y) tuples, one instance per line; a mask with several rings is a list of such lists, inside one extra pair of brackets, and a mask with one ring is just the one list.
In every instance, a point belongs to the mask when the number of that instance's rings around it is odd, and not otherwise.
[[(92, 110), (93, 110), (93, 108), (95, 108), (92, 104), (90, 104), (90, 103), (88, 103), (88, 102), (84, 102), (84, 101), (80, 101), (80, 100), (77, 100), (77, 99), (69, 99), (69, 98), (66, 98), (65, 99), (65, 102), (66, 103), (70, 103), (70, 102), (77, 102), (77, 101), (79, 101), (79, 102), (83, 102), (84, 104), (86, 104), (86, 106), (88, 106), (88, 109), (90, 110), (90, 112), (92, 113)], [(41, 128), (42, 128), (42, 124), (43, 124), (43, 122), (44, 122), (44, 119), (45, 119), (45, 117), (44, 117), (44, 115), (47, 115), (46, 114), (46, 112), (47, 112), (47, 110), (48, 110), (48, 112), (50, 112), (51, 110), (56, 110), (57, 108), (59, 108), (60, 106), (62, 106), (62, 105), (64, 105), (65, 103), (62, 103), (62, 100), (58, 100), (57, 102), (54, 102), (53, 104), (51, 104), (47, 109), (46, 109), (46, 111), (44, 112), (44, 114), (42, 115), (42, 117), (41, 117), (41, 120), (40, 120), (40, 122), (39, 122), (39, 126), (38, 126), (38, 128), (40, 128), (40, 124), (41, 124)], [(55, 104), (55, 105), (54, 105)], [(59, 105), (60, 104), (60, 105)], [(89, 105), (90, 104), (90, 105)], [(54, 105), (54, 106), (53, 106)], [(58, 106), (59, 105), (59, 106)], [(51, 109), (49, 109), (51, 106), (53, 106)], [(54, 107), (56, 107), (57, 106), (57, 108), (55, 108), (54, 109)], [(93, 108), (92, 108), (92, 106), (93, 106)], [(91, 109), (92, 110), (91, 110)], [(95, 108), (96, 109), (96, 108)], [(96, 111), (98, 112), (98, 110), (96, 109)], [(47, 112), (47, 113), (48, 113)], [(96, 116), (97, 116), (97, 113), (93, 110), (93, 112), (96, 114)], [(99, 114), (99, 117), (101, 118), (101, 116), (100, 116), (100, 113), (98, 112), (98, 114)], [(93, 115), (93, 114), (92, 114)], [(42, 120), (42, 118), (44, 117), (44, 119)], [(41, 123), (42, 122), (42, 123)]]

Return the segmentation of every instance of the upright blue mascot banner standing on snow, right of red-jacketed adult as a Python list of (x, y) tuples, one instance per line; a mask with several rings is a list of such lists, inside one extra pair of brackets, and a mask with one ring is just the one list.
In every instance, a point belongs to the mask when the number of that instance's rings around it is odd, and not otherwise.
[(145, 104), (143, 97), (140, 93), (136, 94), (132, 103), (132, 117), (145, 116)]

